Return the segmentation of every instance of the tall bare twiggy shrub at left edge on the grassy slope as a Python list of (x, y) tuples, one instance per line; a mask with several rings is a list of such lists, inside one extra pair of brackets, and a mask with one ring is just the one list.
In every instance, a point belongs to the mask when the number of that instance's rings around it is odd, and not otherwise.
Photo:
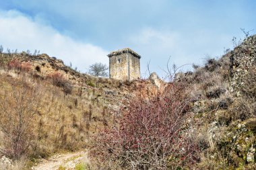
[(0, 152), (11, 159), (26, 155), (34, 138), (33, 119), (40, 101), (40, 92), (22, 82), (13, 82), (11, 93), (4, 91), (0, 103), (0, 130), (4, 134), (4, 148)]

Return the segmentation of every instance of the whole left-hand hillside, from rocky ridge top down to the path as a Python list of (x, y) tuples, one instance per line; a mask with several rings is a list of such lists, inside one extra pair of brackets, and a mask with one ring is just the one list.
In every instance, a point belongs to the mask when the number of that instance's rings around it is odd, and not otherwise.
[(34, 160), (86, 148), (98, 128), (121, 116), (119, 108), (129, 99), (158, 91), (150, 81), (122, 82), (78, 73), (46, 54), (0, 57), (0, 145), (1, 153), (11, 159), (29, 155)]

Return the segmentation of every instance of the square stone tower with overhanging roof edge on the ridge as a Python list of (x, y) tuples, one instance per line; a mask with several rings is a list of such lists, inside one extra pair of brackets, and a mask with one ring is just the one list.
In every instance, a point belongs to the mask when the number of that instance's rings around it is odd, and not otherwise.
[(130, 48), (113, 51), (108, 54), (109, 77), (119, 80), (140, 78), (139, 59), (141, 56)]

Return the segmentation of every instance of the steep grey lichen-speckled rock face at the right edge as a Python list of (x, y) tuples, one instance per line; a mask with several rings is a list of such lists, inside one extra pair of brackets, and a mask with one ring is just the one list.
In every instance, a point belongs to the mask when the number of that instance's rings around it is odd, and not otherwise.
[(239, 96), (244, 85), (244, 77), (256, 67), (256, 35), (250, 36), (234, 48), (230, 61), (232, 91)]

